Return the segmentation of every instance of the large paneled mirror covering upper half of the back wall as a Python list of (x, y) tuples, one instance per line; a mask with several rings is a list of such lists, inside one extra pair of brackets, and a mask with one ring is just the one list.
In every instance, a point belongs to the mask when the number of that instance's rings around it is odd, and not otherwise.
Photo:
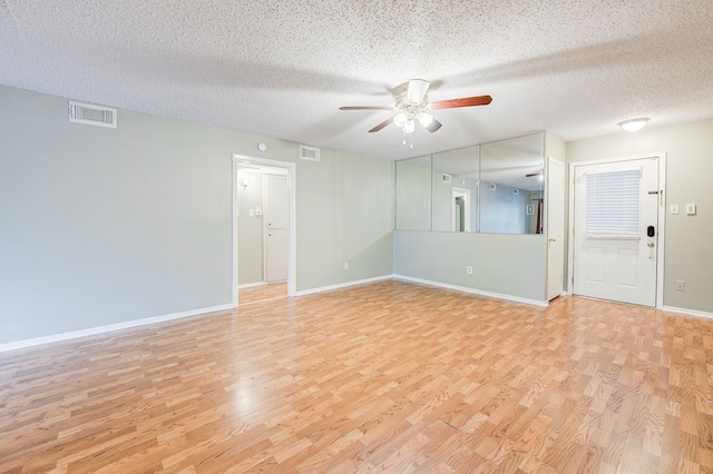
[(541, 234), (545, 134), (397, 161), (397, 229)]

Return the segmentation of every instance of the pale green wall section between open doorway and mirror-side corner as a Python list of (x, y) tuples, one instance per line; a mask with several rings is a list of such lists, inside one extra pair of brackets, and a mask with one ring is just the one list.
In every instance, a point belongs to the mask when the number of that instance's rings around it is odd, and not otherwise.
[(299, 290), (391, 275), (393, 162), (334, 150), (300, 162), (296, 221)]

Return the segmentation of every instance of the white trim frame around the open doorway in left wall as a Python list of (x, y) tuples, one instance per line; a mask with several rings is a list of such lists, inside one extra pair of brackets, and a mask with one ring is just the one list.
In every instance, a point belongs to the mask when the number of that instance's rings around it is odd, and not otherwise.
[(296, 240), (296, 168), (294, 162), (280, 161), (274, 159), (255, 158), (245, 155), (233, 155), (233, 206), (232, 206), (232, 220), (233, 220), (233, 297), (232, 305), (237, 307), (237, 168), (241, 164), (256, 164), (265, 166), (274, 166), (277, 168), (287, 169), (287, 296), (295, 296), (297, 293), (297, 240)]

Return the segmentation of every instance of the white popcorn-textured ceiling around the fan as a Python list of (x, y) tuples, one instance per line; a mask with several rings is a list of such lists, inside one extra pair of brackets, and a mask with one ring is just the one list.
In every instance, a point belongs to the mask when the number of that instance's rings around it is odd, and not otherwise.
[[(0, 83), (388, 159), (550, 130), (713, 117), (710, 0), (1, 0)], [(443, 100), (413, 149), (367, 130), (409, 79)]]

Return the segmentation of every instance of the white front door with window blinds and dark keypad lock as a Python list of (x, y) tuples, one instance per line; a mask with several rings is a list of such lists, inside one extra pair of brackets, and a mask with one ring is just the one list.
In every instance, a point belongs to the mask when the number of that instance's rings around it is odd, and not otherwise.
[(575, 167), (575, 294), (656, 305), (658, 191), (657, 158)]

